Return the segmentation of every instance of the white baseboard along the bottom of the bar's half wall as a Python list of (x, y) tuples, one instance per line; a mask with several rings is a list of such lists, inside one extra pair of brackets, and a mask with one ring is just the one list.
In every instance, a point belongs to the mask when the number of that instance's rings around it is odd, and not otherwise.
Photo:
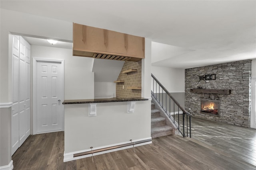
[[(132, 142), (139, 142), (139, 141), (144, 141), (144, 140), (148, 140), (148, 139), (151, 140), (152, 138), (149, 137), (149, 138), (144, 138), (144, 139), (138, 139), (138, 140), (134, 140), (134, 141), (132, 141)], [(117, 146), (117, 145), (124, 145), (124, 144), (128, 144), (128, 143), (131, 143), (131, 142), (129, 141), (129, 142), (124, 142), (124, 143), (117, 143), (117, 144), (114, 144), (114, 145), (108, 145), (108, 146), (104, 146), (104, 147), (94, 148), (93, 150), (104, 149), (104, 148), (114, 147), (114, 146)], [(152, 143), (152, 141), (145, 142), (145, 143), (139, 143), (139, 144), (134, 145), (134, 147), (138, 147), (138, 146), (142, 146), (142, 145), (148, 145), (148, 144), (150, 144), (150, 143)], [(102, 152), (94, 153), (93, 156), (100, 155), (100, 154), (104, 154), (104, 153), (109, 153), (109, 152), (114, 152), (114, 151), (118, 151), (118, 150), (123, 150), (123, 149), (129, 149), (129, 148), (132, 148), (132, 147), (133, 147), (133, 145), (130, 145), (130, 146), (127, 146), (127, 147), (121, 147), (121, 148), (111, 149), (111, 150), (105, 150), (105, 151), (102, 151)], [(79, 153), (88, 152), (88, 151), (91, 151), (91, 149), (79, 150), (79, 151), (70, 152), (70, 153), (65, 153), (65, 152), (64, 152), (64, 159), (63, 159), (63, 162), (68, 162), (68, 161), (70, 161), (70, 160), (77, 160), (77, 159), (81, 159), (81, 158), (91, 157), (92, 154), (86, 154), (86, 155), (83, 155), (83, 156), (76, 156), (76, 157), (74, 157), (74, 154), (79, 154)]]

